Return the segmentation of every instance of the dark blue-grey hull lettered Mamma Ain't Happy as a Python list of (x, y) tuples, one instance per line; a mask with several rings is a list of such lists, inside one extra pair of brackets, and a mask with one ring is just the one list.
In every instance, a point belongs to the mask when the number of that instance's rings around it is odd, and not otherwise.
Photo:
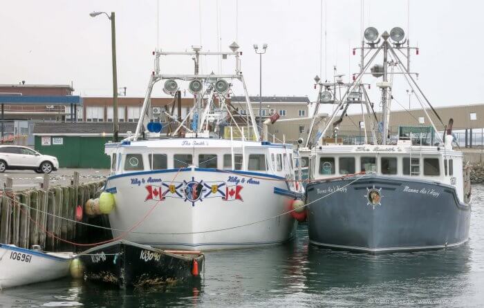
[(383, 175), (355, 179), (308, 185), (306, 202), (313, 202), (308, 205), (310, 243), (382, 253), (467, 241), (471, 209), (459, 202), (454, 187)]

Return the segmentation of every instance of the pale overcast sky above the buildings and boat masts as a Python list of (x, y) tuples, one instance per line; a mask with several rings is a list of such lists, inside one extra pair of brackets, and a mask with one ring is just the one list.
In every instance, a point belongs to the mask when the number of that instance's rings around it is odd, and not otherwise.
[[(322, 76), (328, 79), (333, 76), (333, 66), (338, 73), (346, 74), (346, 80), (348, 72), (357, 72), (359, 57), (351, 55), (351, 48), (361, 41), (362, 1), (323, 1), (323, 18), (320, 0), (238, 3), (236, 31), (236, 0), (160, 0), (159, 47), (185, 50), (201, 44), (204, 50), (216, 50), (220, 37), (223, 50), (228, 50), (227, 46), (237, 40), (251, 95), (259, 93), (259, 57), (252, 48), (254, 43), (269, 46), (263, 55), (263, 95), (308, 95), (314, 100), (313, 78), (320, 74), (321, 58)], [(0, 83), (72, 81), (77, 95), (111, 95), (110, 23), (104, 15), (89, 17), (93, 10), (115, 11), (118, 86), (126, 86), (128, 96), (143, 96), (153, 70), (151, 51), (157, 44), (156, 0), (2, 1)], [(410, 33), (411, 43), (420, 48), (420, 55), (412, 57), (411, 70), (420, 73), (420, 87), (435, 106), (477, 104), (483, 103), (483, 12), (483, 1), (411, 0), (407, 29), (407, 0), (366, 0), (364, 28), (375, 26), (381, 33), (400, 26)], [(327, 33), (322, 57), (321, 21), (326, 23)], [(230, 59), (223, 60), (221, 70), (232, 72), (232, 64)], [(203, 73), (219, 69), (217, 61), (203, 59)], [(162, 71), (192, 73), (192, 60), (174, 57), (162, 61)], [(373, 77), (366, 79), (373, 84), (376, 81)], [(394, 96), (404, 106), (408, 106), (407, 88), (395, 79)], [(241, 94), (239, 87), (234, 91)], [(155, 92), (154, 96), (163, 96), (160, 87)], [(378, 97), (378, 93), (372, 97)], [(416, 106), (412, 102), (412, 107)]]

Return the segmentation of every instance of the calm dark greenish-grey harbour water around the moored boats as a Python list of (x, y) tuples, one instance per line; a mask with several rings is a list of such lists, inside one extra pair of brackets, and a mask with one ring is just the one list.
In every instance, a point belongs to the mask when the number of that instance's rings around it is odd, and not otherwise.
[(470, 240), (447, 250), (369, 256), (288, 244), (206, 253), (198, 287), (120, 291), (57, 280), (0, 291), (0, 307), (319, 307), (484, 305), (484, 186), (473, 186)]

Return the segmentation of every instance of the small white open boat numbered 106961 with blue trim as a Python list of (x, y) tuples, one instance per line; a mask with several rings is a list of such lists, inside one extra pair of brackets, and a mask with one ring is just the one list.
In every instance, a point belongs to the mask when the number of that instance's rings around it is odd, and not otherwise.
[(46, 253), (0, 244), (0, 289), (55, 280), (68, 275), (73, 253)]

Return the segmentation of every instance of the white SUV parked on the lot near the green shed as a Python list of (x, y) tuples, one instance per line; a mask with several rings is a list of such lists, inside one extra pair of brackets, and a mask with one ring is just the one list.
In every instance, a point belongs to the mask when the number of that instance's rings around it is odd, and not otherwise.
[(41, 155), (26, 146), (0, 146), (0, 172), (7, 169), (30, 169), (37, 173), (50, 173), (58, 168), (56, 157)]

